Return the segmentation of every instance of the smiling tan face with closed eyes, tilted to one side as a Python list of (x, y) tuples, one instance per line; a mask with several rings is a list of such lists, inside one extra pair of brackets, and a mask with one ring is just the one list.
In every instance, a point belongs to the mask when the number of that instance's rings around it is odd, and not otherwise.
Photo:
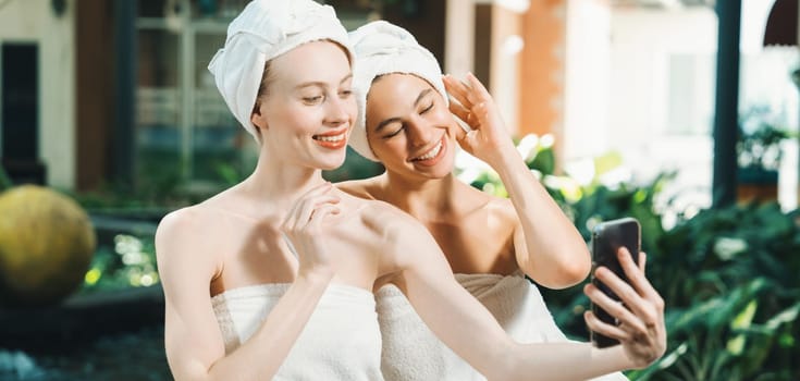
[(453, 171), (457, 125), (427, 81), (392, 73), (377, 77), (367, 95), (367, 139), (387, 171), (441, 179)]

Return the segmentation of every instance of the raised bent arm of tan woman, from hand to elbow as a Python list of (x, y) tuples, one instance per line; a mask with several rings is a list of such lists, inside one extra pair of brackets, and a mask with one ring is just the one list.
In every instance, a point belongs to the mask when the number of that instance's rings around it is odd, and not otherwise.
[(520, 269), (538, 283), (563, 288), (589, 274), (591, 258), (583, 238), (542, 184), (528, 170), (513, 145), (494, 100), (471, 74), (468, 83), (445, 76), (447, 91), (458, 100), (451, 111), (472, 132), (459, 144), (489, 163), (510, 196), (519, 223), (514, 248)]

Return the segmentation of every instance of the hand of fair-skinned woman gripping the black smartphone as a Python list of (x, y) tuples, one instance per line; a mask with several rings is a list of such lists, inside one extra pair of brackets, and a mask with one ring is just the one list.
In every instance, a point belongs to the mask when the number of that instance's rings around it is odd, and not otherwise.
[(598, 268), (594, 274), (620, 297), (621, 303), (610, 298), (591, 283), (586, 285), (583, 292), (593, 303), (617, 318), (619, 325), (602, 322), (591, 311), (587, 311), (584, 318), (590, 330), (621, 343), (633, 368), (644, 368), (666, 351), (664, 299), (644, 276), (644, 253), (640, 254), (639, 267), (625, 247), (619, 248), (617, 258), (630, 284), (604, 267)]

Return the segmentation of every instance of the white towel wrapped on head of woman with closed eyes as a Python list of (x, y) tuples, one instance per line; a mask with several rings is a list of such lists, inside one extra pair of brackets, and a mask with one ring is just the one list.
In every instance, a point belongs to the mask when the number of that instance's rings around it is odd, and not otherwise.
[(349, 144), (362, 157), (379, 161), (367, 140), (367, 94), (372, 81), (390, 73), (414, 74), (435, 88), (447, 105), (442, 69), (436, 58), (423, 48), (408, 30), (385, 21), (376, 21), (350, 32), (356, 54), (353, 65), (353, 89), (358, 102), (358, 116)]

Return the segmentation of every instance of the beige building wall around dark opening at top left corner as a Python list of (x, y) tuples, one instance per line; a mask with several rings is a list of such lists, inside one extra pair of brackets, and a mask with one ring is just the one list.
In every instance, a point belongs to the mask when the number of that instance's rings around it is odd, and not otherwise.
[(39, 156), (47, 183), (75, 184), (75, 0), (57, 15), (50, 0), (0, 2), (0, 44), (39, 47)]

